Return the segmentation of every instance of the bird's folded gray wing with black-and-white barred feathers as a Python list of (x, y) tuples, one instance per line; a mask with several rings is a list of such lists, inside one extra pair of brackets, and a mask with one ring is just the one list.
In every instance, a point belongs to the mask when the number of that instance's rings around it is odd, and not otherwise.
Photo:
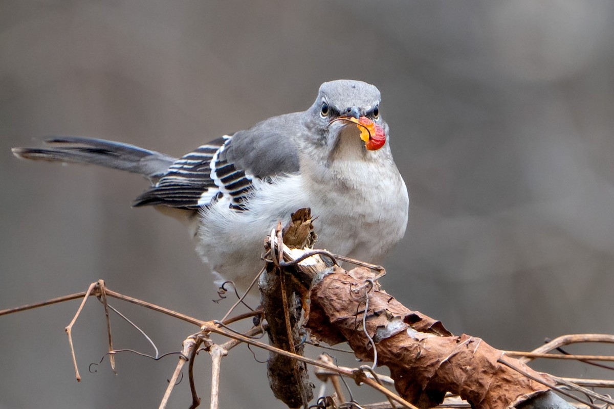
[(134, 206), (198, 209), (226, 196), (230, 208), (245, 210), (254, 180), (298, 171), (293, 135), (283, 129), (260, 123), (198, 147), (177, 159)]

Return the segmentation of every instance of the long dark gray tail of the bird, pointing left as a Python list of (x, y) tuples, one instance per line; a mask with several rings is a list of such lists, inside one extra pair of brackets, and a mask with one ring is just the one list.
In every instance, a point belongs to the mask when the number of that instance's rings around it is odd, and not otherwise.
[(160, 178), (176, 161), (176, 158), (163, 153), (111, 140), (51, 137), (44, 142), (50, 146), (13, 148), (12, 151), (21, 159), (101, 165), (145, 175), (152, 181)]

